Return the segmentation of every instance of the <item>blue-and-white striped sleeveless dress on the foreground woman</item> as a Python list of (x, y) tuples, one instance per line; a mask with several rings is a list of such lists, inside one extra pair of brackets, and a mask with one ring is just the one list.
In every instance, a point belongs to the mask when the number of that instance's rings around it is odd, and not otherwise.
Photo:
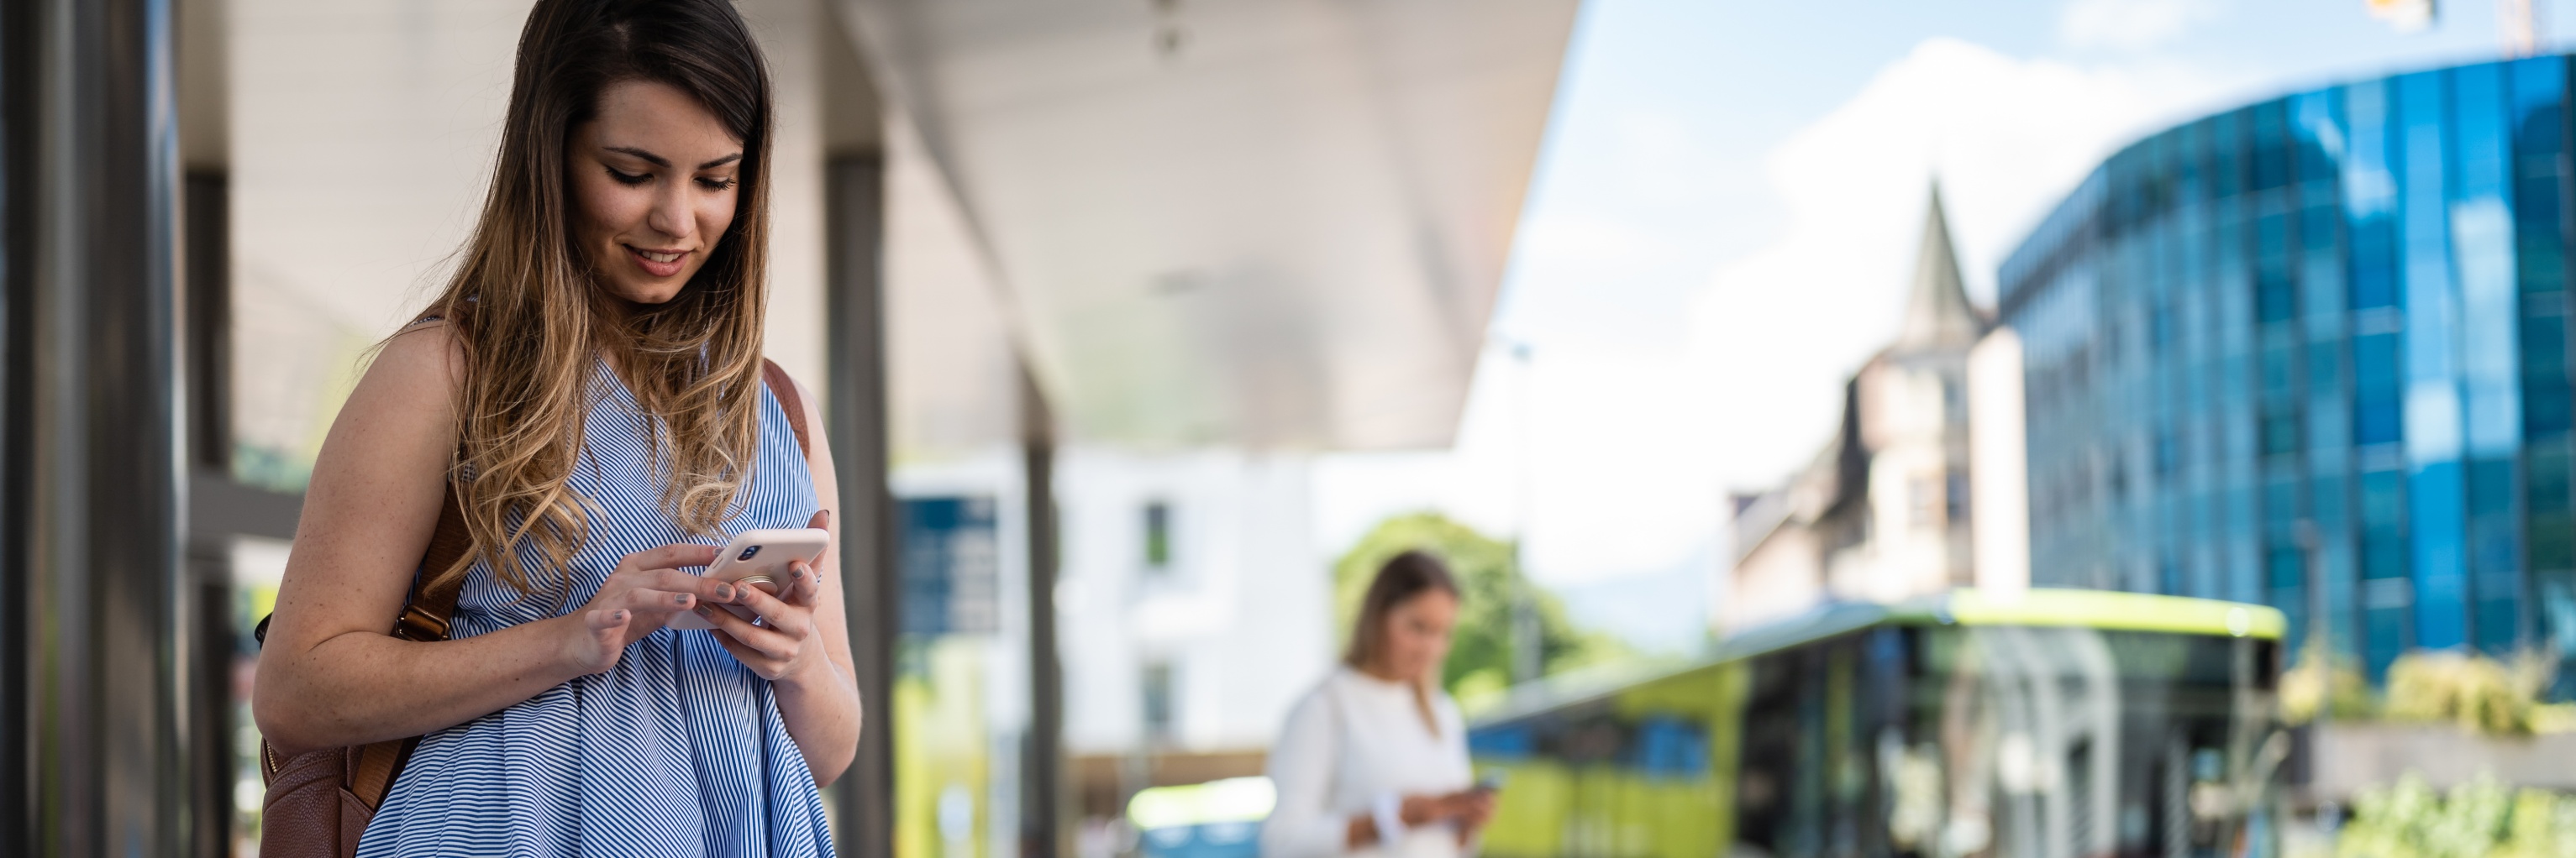
[[(690, 539), (662, 513), (654, 420), (598, 374), (572, 490), (592, 500), (572, 595), (520, 598), (477, 562), (453, 636), (569, 613), (618, 559)], [(726, 533), (801, 528), (814, 479), (778, 397), (760, 389), (760, 456)], [(533, 551), (531, 551), (533, 554)], [(420, 739), (358, 855), (832, 855), (822, 794), (778, 716), (770, 683), (711, 631), (659, 629), (608, 672)]]

